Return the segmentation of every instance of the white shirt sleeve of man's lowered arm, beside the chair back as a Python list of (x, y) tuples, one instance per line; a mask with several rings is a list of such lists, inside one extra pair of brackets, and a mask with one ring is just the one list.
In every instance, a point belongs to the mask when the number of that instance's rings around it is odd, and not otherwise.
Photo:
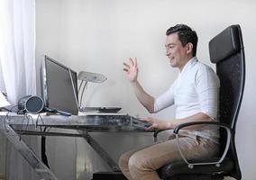
[(210, 67), (197, 72), (196, 89), (201, 112), (212, 119), (217, 119), (220, 82)]

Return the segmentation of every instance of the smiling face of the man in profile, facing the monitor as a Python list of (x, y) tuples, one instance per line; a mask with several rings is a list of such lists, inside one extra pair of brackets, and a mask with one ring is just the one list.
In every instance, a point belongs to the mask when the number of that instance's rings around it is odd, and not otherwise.
[(180, 70), (186, 65), (189, 57), (188, 44), (184, 47), (180, 40), (178, 40), (178, 32), (171, 33), (166, 38), (166, 56), (169, 58), (171, 67), (178, 67)]

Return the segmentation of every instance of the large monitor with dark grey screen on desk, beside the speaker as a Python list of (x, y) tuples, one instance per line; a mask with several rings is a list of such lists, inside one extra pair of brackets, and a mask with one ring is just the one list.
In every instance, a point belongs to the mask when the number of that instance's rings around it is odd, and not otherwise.
[(47, 56), (41, 64), (41, 94), (46, 107), (78, 114), (77, 73)]

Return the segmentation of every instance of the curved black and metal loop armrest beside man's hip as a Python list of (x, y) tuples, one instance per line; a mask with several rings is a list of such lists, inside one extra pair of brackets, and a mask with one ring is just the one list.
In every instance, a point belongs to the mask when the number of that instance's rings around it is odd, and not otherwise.
[[(227, 141), (226, 141), (226, 146), (224, 148), (224, 153), (222, 155), (222, 157), (220, 157), (219, 160), (215, 161), (215, 162), (197, 162), (197, 163), (189, 163), (186, 159), (186, 157), (184, 156), (181, 148), (180, 148), (180, 144), (179, 144), (179, 139), (178, 139), (178, 131), (181, 130), (182, 128), (188, 127), (188, 126), (193, 126), (193, 125), (213, 125), (213, 126), (218, 126), (218, 127), (222, 127), (226, 130), (227, 132)], [(173, 133), (176, 134), (176, 140), (177, 140), (177, 146), (178, 146), (178, 151), (181, 155), (181, 157), (183, 158), (183, 160), (187, 163), (189, 168), (193, 168), (194, 166), (197, 165), (215, 165), (215, 166), (220, 166), (220, 164), (223, 162), (224, 157), (227, 154), (228, 148), (230, 146), (230, 141), (231, 141), (231, 135), (232, 135), (232, 129), (227, 125), (224, 124), (222, 122), (217, 122), (217, 121), (192, 121), (192, 122), (187, 122), (187, 123), (182, 123), (179, 124), (174, 130)]]

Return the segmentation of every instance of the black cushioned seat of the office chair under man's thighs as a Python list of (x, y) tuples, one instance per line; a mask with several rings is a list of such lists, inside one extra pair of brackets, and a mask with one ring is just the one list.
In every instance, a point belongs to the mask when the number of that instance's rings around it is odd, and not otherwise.
[[(206, 162), (215, 162), (219, 158), (209, 159)], [(202, 162), (202, 161), (200, 161)], [(213, 174), (213, 173), (221, 173), (228, 172), (233, 169), (233, 160), (229, 157), (225, 157), (224, 161), (220, 164), (219, 167), (215, 165), (204, 165), (204, 166), (194, 166), (194, 168), (189, 168), (187, 164), (183, 161), (175, 161), (169, 163), (166, 166), (162, 166), (159, 169), (160, 177), (163, 179), (169, 178), (174, 175), (184, 175), (184, 174)]]

